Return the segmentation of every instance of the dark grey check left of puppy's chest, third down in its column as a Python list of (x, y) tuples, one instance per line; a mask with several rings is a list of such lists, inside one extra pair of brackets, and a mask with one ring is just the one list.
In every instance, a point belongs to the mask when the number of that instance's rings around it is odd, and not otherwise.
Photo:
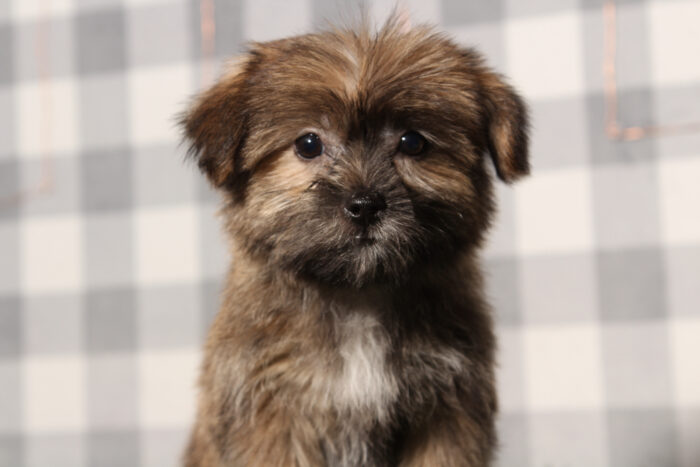
[(136, 346), (136, 299), (130, 288), (88, 291), (85, 297), (87, 348), (91, 352)]

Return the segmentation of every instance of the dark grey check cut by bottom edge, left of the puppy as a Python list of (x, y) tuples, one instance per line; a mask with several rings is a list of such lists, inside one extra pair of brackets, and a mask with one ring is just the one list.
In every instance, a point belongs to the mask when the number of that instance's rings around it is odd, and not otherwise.
[(91, 467), (140, 465), (138, 431), (99, 431), (88, 435)]

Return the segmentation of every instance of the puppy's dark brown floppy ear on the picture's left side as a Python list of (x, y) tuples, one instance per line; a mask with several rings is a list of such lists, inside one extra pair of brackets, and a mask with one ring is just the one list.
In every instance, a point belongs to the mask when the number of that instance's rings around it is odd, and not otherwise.
[(197, 161), (215, 187), (222, 187), (232, 179), (240, 157), (247, 128), (245, 108), (250, 62), (249, 57), (244, 57), (233, 63), (180, 119), (189, 143), (189, 156)]

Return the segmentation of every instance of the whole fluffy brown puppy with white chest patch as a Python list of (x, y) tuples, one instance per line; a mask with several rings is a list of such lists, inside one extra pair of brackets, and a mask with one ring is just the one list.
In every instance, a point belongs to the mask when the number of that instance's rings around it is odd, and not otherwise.
[(253, 44), (182, 120), (233, 268), (188, 467), (484, 466), (494, 336), (475, 251), (528, 172), (521, 99), (429, 28)]

